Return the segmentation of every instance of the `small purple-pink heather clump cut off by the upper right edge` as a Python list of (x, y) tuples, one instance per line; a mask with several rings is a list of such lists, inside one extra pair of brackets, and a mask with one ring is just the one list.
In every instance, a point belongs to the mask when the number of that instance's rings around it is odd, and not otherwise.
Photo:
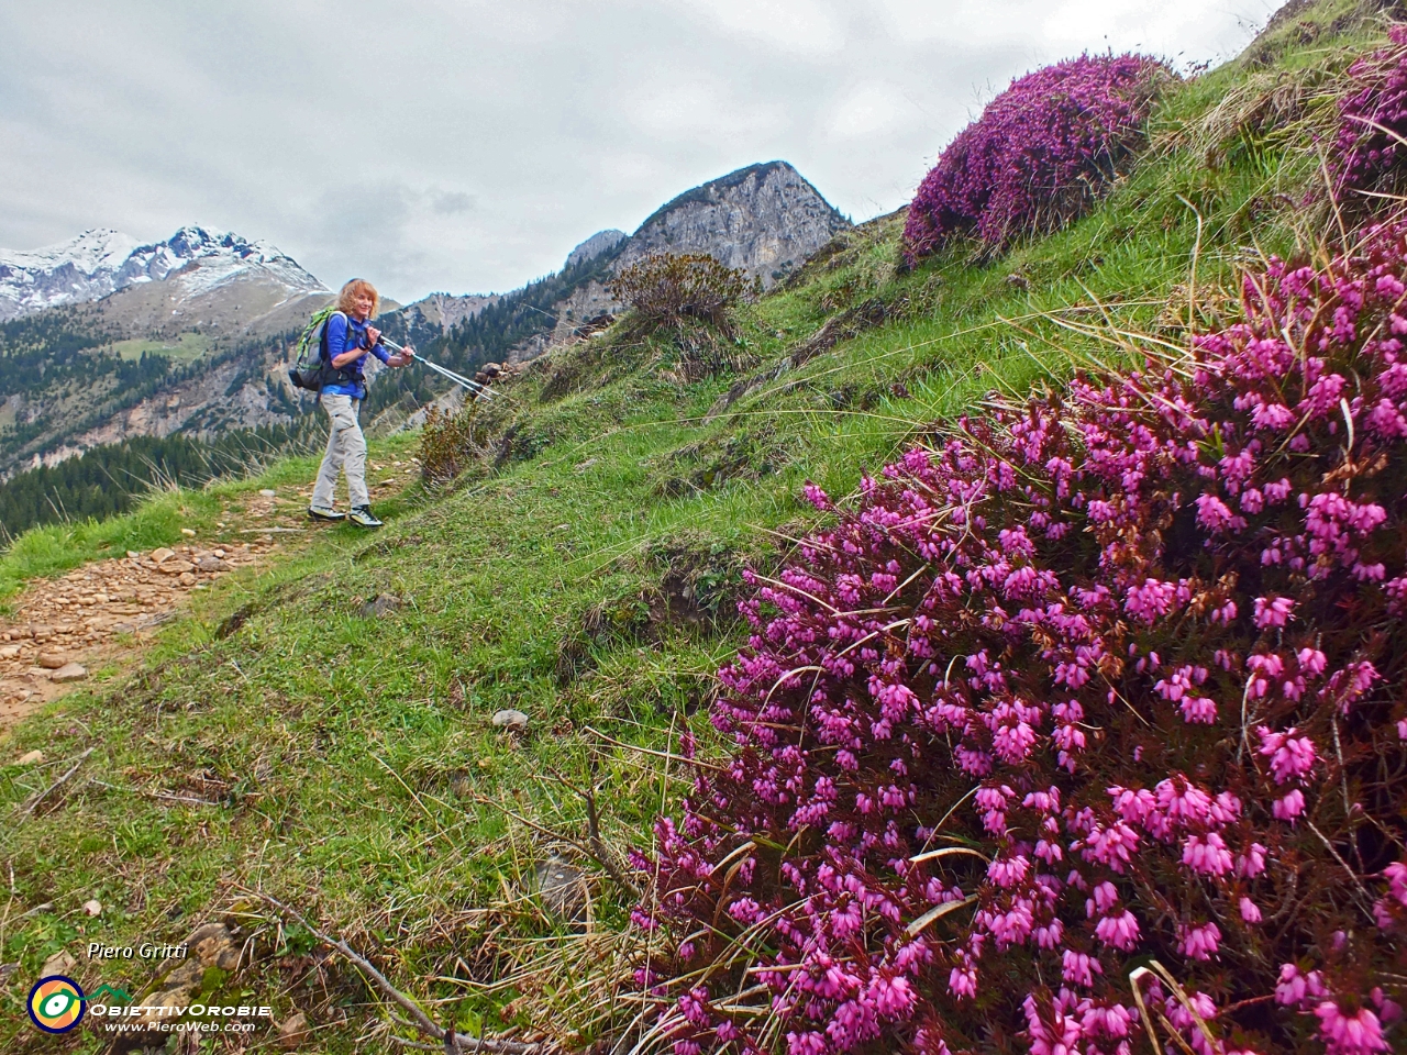
[[(1341, 187), (1369, 187), (1401, 156), (1407, 136), (1407, 25), (1387, 31), (1390, 48), (1348, 69), (1358, 90), (1338, 104), (1334, 167)], [(1384, 131), (1389, 129), (1389, 131)]]

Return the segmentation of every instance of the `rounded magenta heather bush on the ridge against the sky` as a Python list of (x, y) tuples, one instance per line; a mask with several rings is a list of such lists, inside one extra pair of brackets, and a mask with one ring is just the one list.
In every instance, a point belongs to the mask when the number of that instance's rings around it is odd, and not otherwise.
[(953, 234), (1000, 248), (1078, 217), (1142, 142), (1166, 75), (1141, 55), (1085, 55), (1013, 80), (919, 186), (903, 231), (909, 262)]

